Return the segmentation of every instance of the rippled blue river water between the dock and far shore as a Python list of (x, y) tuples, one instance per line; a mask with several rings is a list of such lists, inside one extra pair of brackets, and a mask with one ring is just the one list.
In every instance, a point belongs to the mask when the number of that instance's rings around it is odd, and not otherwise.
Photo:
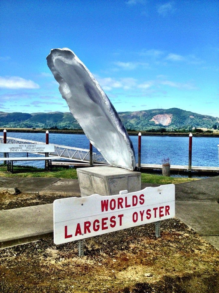
[[(29, 139), (45, 142), (45, 133), (7, 132), (7, 137)], [(138, 136), (130, 136), (136, 160), (138, 157)], [(84, 134), (50, 133), (49, 143), (89, 149), (89, 140)], [(192, 165), (218, 167), (217, 137), (193, 137)], [(142, 136), (141, 137), (141, 163), (162, 164), (162, 160), (169, 158), (172, 165), (188, 165), (189, 137), (180, 136)], [(93, 148), (93, 152), (98, 152)], [(26, 155), (26, 154), (25, 154)], [(16, 154), (17, 156), (17, 154)], [(43, 167), (42, 161), (16, 162), (20, 165)]]

